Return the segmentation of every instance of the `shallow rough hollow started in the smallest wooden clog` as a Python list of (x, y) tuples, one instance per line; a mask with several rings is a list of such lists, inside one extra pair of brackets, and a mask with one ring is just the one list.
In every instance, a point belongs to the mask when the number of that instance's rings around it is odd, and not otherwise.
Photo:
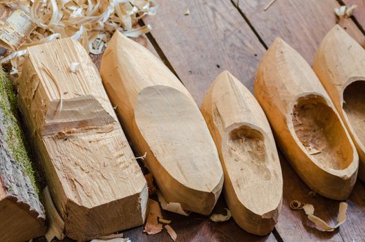
[(236, 169), (247, 174), (269, 180), (270, 171), (267, 168), (266, 151), (263, 135), (250, 127), (239, 127), (230, 133), (228, 141), (230, 155), (236, 163)]

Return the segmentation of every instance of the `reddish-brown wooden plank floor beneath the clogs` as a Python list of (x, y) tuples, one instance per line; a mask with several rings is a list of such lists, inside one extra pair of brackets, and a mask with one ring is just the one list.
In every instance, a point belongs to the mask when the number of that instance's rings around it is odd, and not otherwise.
[[(343, 26), (364, 46), (365, 4), (363, 0), (344, 0), (357, 4), (353, 19), (337, 19), (336, 0), (277, 0), (263, 11), (270, 0), (158, 0), (158, 14), (144, 19), (153, 29), (140, 43), (156, 50), (191, 92), (200, 106), (216, 75), (227, 69), (253, 91), (254, 74), (265, 48), (281, 37), (312, 64), (321, 39), (336, 23)], [(190, 14), (185, 15), (189, 10)], [(355, 23), (355, 22), (356, 23)], [(95, 62), (98, 62), (97, 58)], [(308, 196), (310, 189), (281, 155), (284, 192), (279, 223), (268, 236), (254, 236), (241, 230), (231, 219), (214, 223), (198, 214), (188, 217), (163, 212), (172, 221), (178, 241), (365, 241), (365, 187), (357, 182), (348, 198), (348, 220), (334, 232), (319, 232), (303, 211), (290, 210), (292, 200), (312, 203), (315, 214), (334, 224), (338, 201)], [(223, 212), (223, 197), (214, 212)], [(124, 232), (131, 241), (171, 241), (166, 231), (149, 236), (143, 227)], [(69, 241), (66, 239), (65, 241)]]

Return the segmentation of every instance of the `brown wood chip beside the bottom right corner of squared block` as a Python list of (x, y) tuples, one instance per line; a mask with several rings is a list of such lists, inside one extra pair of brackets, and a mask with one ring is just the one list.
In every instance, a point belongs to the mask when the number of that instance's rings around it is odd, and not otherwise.
[(147, 234), (158, 234), (162, 231), (162, 225), (158, 223), (158, 217), (162, 217), (160, 205), (158, 202), (149, 198), (148, 200), (149, 213), (147, 215), (147, 222), (144, 225), (143, 232)]

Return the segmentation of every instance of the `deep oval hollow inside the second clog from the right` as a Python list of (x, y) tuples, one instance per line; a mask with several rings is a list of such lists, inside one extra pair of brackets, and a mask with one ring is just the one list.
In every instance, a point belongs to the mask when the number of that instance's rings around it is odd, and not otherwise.
[(303, 97), (294, 105), (294, 131), (319, 165), (345, 169), (353, 160), (353, 150), (338, 116), (323, 98)]

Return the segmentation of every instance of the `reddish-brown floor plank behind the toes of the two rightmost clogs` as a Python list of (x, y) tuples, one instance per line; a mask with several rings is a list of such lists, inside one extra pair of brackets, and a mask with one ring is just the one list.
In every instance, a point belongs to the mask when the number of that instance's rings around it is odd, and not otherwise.
[[(336, 0), (277, 0), (266, 11), (263, 8), (270, 0), (234, 2), (267, 46), (276, 37), (281, 37), (298, 50), (309, 64), (312, 64), (321, 40), (339, 21), (334, 11), (334, 8), (339, 7)], [(364, 44), (364, 35), (351, 19), (341, 19), (339, 25), (360, 44)]]

